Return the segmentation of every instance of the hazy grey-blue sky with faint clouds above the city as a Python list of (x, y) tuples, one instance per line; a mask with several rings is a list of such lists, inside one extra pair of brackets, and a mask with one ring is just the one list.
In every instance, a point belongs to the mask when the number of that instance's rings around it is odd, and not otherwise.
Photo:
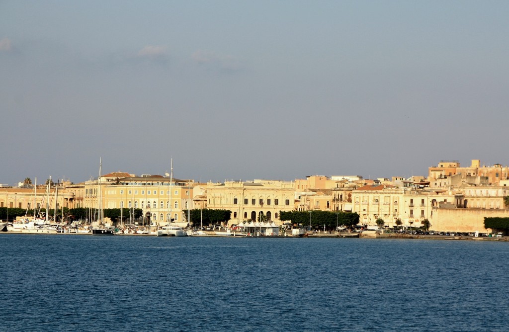
[[(509, 163), (507, 1), (0, 0), (0, 183)], [(56, 182), (56, 180), (55, 180)]]

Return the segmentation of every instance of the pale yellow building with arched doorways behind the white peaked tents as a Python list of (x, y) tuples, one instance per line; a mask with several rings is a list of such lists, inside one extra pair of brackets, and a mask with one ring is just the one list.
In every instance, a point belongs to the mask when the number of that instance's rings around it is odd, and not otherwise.
[(272, 220), (280, 225), (279, 213), (295, 209), (295, 183), (277, 180), (207, 183), (207, 208), (232, 211), (229, 225), (244, 220)]

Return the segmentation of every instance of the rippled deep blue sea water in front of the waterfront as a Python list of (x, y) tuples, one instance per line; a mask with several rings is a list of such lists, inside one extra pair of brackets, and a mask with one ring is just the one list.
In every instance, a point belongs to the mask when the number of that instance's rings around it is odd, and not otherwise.
[(0, 234), (2, 331), (507, 331), (509, 243)]

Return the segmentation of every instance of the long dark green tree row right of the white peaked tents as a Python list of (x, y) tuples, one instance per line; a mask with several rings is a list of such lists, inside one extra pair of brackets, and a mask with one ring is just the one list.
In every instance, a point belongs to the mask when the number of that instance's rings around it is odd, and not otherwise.
[(330, 211), (281, 211), (279, 213), (281, 221), (288, 221), (292, 224), (307, 226), (311, 224), (312, 228), (322, 228), (331, 230), (338, 226), (354, 226), (359, 223), (359, 215), (355, 212), (330, 212)]

